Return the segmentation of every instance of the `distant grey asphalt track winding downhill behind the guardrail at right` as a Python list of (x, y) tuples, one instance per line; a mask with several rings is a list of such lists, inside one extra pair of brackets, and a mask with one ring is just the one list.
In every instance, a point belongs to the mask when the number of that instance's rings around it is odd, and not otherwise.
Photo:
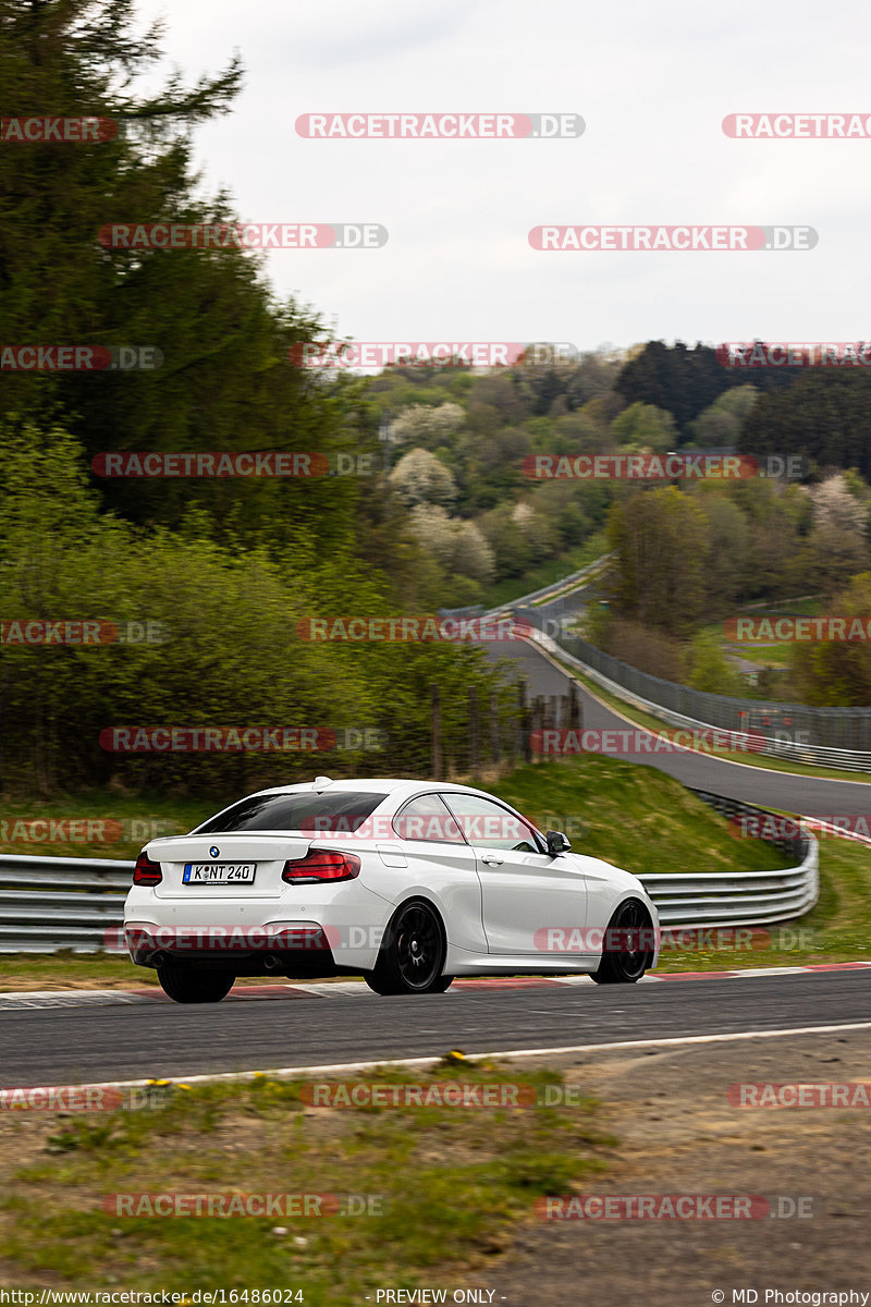
[[(500, 640), (488, 644), (487, 648), (491, 657), (508, 657), (518, 664), (518, 670), (529, 682), (531, 697), (568, 693), (572, 677), (555, 667), (534, 644), (526, 640)], [(578, 685), (578, 695), (582, 703), (584, 729), (639, 729), (646, 735), (642, 728), (636, 728), (594, 699), (582, 685)], [(806, 817), (871, 814), (871, 783), (862, 780), (827, 780), (785, 771), (767, 771), (764, 767), (743, 766), (693, 752), (626, 757), (629, 762), (665, 771), (684, 786), (709, 789), (714, 795), (739, 799), (761, 808), (782, 808)]]

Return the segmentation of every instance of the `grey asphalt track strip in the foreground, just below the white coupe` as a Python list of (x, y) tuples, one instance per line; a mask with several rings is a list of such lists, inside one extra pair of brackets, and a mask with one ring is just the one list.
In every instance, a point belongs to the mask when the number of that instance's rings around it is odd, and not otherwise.
[[(451, 1048), (474, 1055), (851, 1022), (871, 1022), (871, 970), (424, 997), (25, 1008), (0, 1012), (0, 1080), (4, 1087), (182, 1080)], [(733, 1047), (740, 1063), (744, 1046)]]

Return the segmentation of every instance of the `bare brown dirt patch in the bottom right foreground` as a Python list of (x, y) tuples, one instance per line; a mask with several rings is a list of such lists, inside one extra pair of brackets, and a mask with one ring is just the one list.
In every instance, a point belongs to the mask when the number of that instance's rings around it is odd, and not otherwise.
[(871, 1034), (585, 1055), (563, 1065), (569, 1084), (602, 1098), (605, 1120), (622, 1140), (607, 1174), (584, 1193), (810, 1197), (812, 1216), (530, 1221), (484, 1276), (494, 1302), (701, 1307), (731, 1304), (733, 1290), (755, 1289), (765, 1307), (765, 1290), (871, 1290), (868, 1110), (726, 1100), (736, 1081), (871, 1080)]

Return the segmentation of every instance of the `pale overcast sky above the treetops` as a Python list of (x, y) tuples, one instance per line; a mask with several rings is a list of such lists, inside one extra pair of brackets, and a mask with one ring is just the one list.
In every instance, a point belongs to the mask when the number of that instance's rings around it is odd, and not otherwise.
[[(276, 251), (281, 293), (387, 340), (859, 340), (871, 139), (730, 140), (731, 112), (871, 118), (871, 16), (820, 0), (535, 4), (145, 0), (193, 80), (234, 50), (197, 136), (252, 222), (380, 222), (380, 250)], [(575, 112), (577, 140), (306, 140), (306, 112)], [(870, 123), (871, 127), (871, 123)], [(538, 252), (539, 223), (797, 223), (798, 252)]]

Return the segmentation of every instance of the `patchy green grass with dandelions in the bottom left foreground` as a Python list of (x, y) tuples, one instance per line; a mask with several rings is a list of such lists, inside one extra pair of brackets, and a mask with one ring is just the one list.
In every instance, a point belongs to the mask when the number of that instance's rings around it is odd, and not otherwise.
[[(447, 1063), (367, 1081), (562, 1084), (555, 1072)], [(300, 1289), (309, 1307), (351, 1307), (389, 1283), (456, 1282), (507, 1248), (535, 1199), (577, 1189), (615, 1141), (578, 1090), (556, 1107), (311, 1108), (303, 1081), (170, 1091), (136, 1112), (43, 1116), (25, 1166), (0, 1162), (0, 1280), (167, 1291)], [(554, 1090), (551, 1090), (551, 1094)], [(17, 1121), (4, 1114), (4, 1127)], [(99, 1117), (99, 1119), (98, 1119)], [(133, 1217), (110, 1195), (371, 1196), (356, 1217)], [(283, 1297), (279, 1299), (283, 1302)]]

